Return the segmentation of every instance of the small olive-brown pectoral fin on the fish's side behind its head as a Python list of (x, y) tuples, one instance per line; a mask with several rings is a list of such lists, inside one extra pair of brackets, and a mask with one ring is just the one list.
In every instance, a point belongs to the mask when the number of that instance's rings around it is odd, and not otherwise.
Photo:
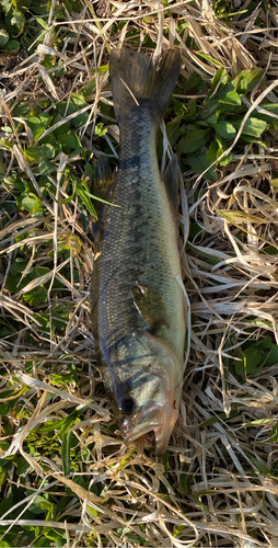
[(131, 294), (137, 310), (152, 334), (155, 334), (163, 326), (169, 328), (163, 297), (157, 289), (137, 282), (131, 288)]

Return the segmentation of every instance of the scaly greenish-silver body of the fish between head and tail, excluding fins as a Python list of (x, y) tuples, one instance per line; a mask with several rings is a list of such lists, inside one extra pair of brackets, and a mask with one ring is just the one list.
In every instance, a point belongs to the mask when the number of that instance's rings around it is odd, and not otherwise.
[[(121, 132), (128, 135), (123, 139), (121, 158), (140, 151), (143, 163), (121, 170), (116, 181), (113, 202), (120, 208), (109, 208), (104, 220), (103, 239), (100, 242), (99, 263), (107, 258), (111, 266), (105, 265), (100, 281), (99, 311), (105, 345), (115, 344), (116, 336), (121, 340), (127, 331), (143, 329), (144, 321), (134, 306), (131, 287), (139, 282), (154, 287), (163, 295), (166, 316), (173, 329), (169, 333), (171, 346), (177, 346), (174, 330), (175, 317), (181, 316), (177, 305), (173, 309), (173, 299), (181, 302), (181, 287), (175, 276), (181, 275), (179, 254), (176, 242), (176, 224), (171, 204), (161, 181), (155, 150), (155, 133), (148, 130), (150, 119), (141, 117), (140, 133), (137, 121), (123, 121)], [(132, 256), (132, 261), (130, 261)], [(161, 275), (163, 272), (163, 275)], [(171, 287), (172, 286), (172, 287)], [(173, 293), (175, 296), (173, 296)], [(179, 308), (179, 310), (178, 310)]]

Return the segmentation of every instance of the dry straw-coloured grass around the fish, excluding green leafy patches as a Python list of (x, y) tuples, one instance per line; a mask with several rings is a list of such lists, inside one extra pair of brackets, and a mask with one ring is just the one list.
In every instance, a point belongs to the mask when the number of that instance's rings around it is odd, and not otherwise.
[[(235, 12), (247, 9), (250, 1), (232, 3), (231, 11)], [(33, 494), (24, 491), (25, 499), (18, 503), (16, 520), (11, 520), (9, 511), (2, 515), (2, 539), (5, 540), (12, 526), (13, 530), (18, 527), (15, 538), (20, 538), (20, 532), (26, 530), (22, 529), (24, 525), (37, 525), (39, 535), (47, 525), (66, 533), (60, 546), (72, 547), (277, 546), (278, 460), (277, 444), (270, 437), (278, 423), (277, 364), (245, 376), (235, 372), (246, 341), (255, 344), (269, 336), (278, 344), (278, 204), (271, 184), (277, 152), (275, 133), (265, 148), (240, 146), (239, 132), (233, 160), (218, 169), (215, 183), (206, 180), (206, 174), (183, 173), (184, 249), (188, 216), (200, 231), (189, 237), (189, 246), (182, 254), (184, 283), (192, 304), (192, 345), (181, 416), (169, 455), (162, 463), (152, 457), (148, 447), (143, 456), (138, 456), (121, 442), (118, 431), (111, 429), (114, 420), (95, 370), (90, 322), (93, 246), (82, 228), (79, 201), (73, 197), (60, 203), (69, 197), (61, 183), (62, 174), (68, 162), (77, 159), (60, 155), (59, 169), (49, 175), (56, 199), (46, 199), (38, 175), (23, 153), (23, 144), (32, 145), (33, 135), (24, 119), (13, 119), (11, 104), (22, 99), (32, 105), (46, 98), (57, 103), (68, 101), (71, 92), (78, 93), (88, 81), (94, 80), (86, 98), (89, 104), (83, 107), (84, 112), (89, 110), (90, 117), (77, 133), (81, 144), (92, 151), (92, 160), (102, 148), (108, 147), (111, 158), (116, 161), (116, 122), (100, 113), (100, 101), (112, 104), (112, 93), (107, 71), (97, 68), (107, 65), (113, 47), (130, 44), (129, 31), (139, 28), (141, 43), (144, 36), (157, 43), (157, 55), (176, 35), (182, 76), (187, 80), (194, 71), (198, 72), (207, 89), (220, 66), (230, 76), (243, 69), (263, 68), (265, 80), (251, 94), (250, 116), (254, 103), (259, 106), (265, 96), (277, 102), (278, 9), (273, 1), (263, 2), (251, 15), (245, 19), (234, 15), (227, 24), (216, 18), (209, 0), (172, 2), (170, 9), (147, 0), (112, 1), (105, 3), (103, 12), (99, 4), (84, 0), (83, 11), (68, 13), (62, 22), (54, 20), (54, 8), (55, 0), (44, 42), (36, 52), (31, 57), (18, 54), (15, 58), (7, 58), (2, 68), (5, 98), (1, 116), (4, 124), (10, 119), (13, 127), (8, 137), (12, 147), (3, 146), (1, 151), (5, 175), (12, 170), (25, 173), (46, 212), (37, 219), (14, 205), (9, 215), (2, 214), (1, 313), (7, 324), (16, 324), (18, 330), (0, 343), (0, 397), (8, 385), (15, 390), (15, 396), (4, 396), (0, 401), (15, 398), (21, 412), (8, 414), (11, 430), (1, 435), (9, 448), (1, 458), (19, 454), (25, 458), (28, 467), (24, 481), (33, 491)], [(260, 25), (256, 26), (258, 15)], [(115, 24), (120, 21), (126, 23), (117, 31)], [(177, 34), (181, 21), (188, 25)], [(163, 33), (165, 28), (170, 31), (167, 34)], [(76, 37), (67, 37), (69, 30), (77, 33)], [(62, 47), (57, 47), (57, 36)], [(193, 39), (202, 57), (192, 48)], [(66, 76), (49, 78), (53, 69), (40, 65), (46, 54), (62, 61)], [(187, 96), (182, 100), (188, 101)], [(65, 116), (70, 121), (74, 113)], [(102, 141), (94, 136), (100, 121), (107, 126)], [(23, 124), (20, 133), (19, 122)], [(59, 127), (60, 122), (57, 124)], [(53, 127), (39, 139), (50, 135)], [(166, 153), (166, 142), (164, 147)], [(2, 186), (1, 204), (8, 199), (7, 187)], [(58, 248), (65, 241), (70, 253), (60, 262)], [(5, 288), (7, 277), (23, 248), (28, 256), (25, 275), (35, 265), (50, 267), (11, 295)], [(73, 272), (78, 273), (78, 279), (73, 279)], [(61, 286), (53, 296), (55, 279)], [(46, 283), (48, 300), (34, 310), (22, 295)], [(54, 322), (57, 307), (69, 310), (69, 321), (62, 330)], [(49, 311), (50, 329), (37, 334), (37, 312), (43, 309)], [(69, 364), (78, 379), (68, 385), (56, 379), (55, 384), (53, 374), (66, 376)], [(26, 441), (33, 431), (38, 439), (37, 426), (67, 418), (67, 410), (72, 413), (76, 408), (81, 414), (63, 434), (71, 432), (78, 441), (80, 460), (76, 465), (69, 452), (70, 463), (55, 450), (47, 455), (44, 450), (33, 454), (27, 450)], [(9, 496), (14, 473), (15, 469), (10, 469), (2, 486), (3, 498)], [(86, 481), (85, 488), (77, 481), (80, 476)], [(67, 496), (71, 493), (70, 503), (56, 520), (50, 516), (47, 521), (39, 520), (39, 514), (36, 522), (21, 517), (35, 496), (53, 491)], [(25, 545), (24, 538), (23, 535), (23, 544), (14, 546)]]

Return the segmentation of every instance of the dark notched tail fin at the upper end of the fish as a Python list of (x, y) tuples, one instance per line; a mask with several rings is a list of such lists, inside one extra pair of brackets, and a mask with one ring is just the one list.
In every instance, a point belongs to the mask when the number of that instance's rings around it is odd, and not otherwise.
[(164, 52), (160, 64), (137, 52), (113, 49), (111, 82), (118, 123), (130, 107), (142, 106), (148, 107), (160, 122), (174, 91), (179, 69), (181, 58), (175, 49)]

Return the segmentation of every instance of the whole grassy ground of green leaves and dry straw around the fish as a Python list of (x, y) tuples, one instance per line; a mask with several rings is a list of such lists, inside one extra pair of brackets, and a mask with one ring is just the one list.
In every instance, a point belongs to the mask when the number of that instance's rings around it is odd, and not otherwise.
[[(0, 547), (277, 544), (275, 5), (202, 4), (0, 1)], [(161, 37), (192, 345), (158, 459), (124, 444), (95, 367), (90, 186), (117, 164), (109, 50)]]

